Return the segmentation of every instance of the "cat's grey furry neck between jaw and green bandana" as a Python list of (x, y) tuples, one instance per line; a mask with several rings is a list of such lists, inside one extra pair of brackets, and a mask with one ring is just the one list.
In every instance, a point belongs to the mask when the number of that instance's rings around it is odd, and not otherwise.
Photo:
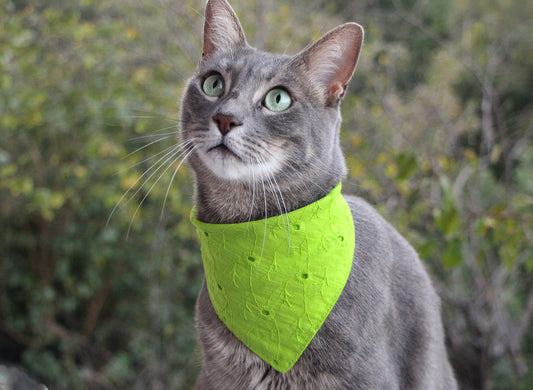
[[(338, 133), (340, 114), (337, 116)], [(298, 172), (290, 171), (253, 183), (218, 178), (192, 156), (197, 217), (207, 223), (240, 223), (307, 206), (326, 196), (346, 176), (346, 163), (338, 141), (327, 155), (329, 158), (321, 158), (320, 164), (305, 166), (302, 162)]]

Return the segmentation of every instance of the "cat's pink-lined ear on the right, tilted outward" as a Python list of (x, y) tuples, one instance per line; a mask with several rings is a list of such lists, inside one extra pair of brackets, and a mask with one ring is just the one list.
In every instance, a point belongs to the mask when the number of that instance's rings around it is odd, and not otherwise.
[(328, 104), (344, 97), (359, 59), (363, 36), (360, 25), (346, 23), (297, 55), (311, 81), (325, 92)]

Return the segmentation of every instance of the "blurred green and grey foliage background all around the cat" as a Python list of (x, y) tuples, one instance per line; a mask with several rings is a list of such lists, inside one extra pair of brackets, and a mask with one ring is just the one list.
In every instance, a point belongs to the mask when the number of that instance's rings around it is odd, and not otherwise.
[[(275, 52), (365, 27), (344, 189), (431, 271), (462, 389), (533, 388), (533, 2), (232, 5)], [(0, 1), (0, 364), (50, 389), (194, 383), (192, 177), (166, 153), (203, 8)]]

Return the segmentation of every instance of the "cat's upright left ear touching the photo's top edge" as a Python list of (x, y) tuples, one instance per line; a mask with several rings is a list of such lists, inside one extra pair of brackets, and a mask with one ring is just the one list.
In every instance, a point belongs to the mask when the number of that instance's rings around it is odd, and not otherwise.
[(246, 45), (246, 37), (233, 8), (226, 0), (209, 0), (205, 9), (202, 57), (243, 45)]

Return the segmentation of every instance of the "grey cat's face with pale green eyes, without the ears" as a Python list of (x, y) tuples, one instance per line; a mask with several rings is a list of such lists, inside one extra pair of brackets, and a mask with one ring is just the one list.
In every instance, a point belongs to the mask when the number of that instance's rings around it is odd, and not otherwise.
[(255, 181), (328, 155), (337, 110), (319, 104), (291, 60), (242, 48), (201, 63), (182, 106), (197, 164), (221, 179)]

